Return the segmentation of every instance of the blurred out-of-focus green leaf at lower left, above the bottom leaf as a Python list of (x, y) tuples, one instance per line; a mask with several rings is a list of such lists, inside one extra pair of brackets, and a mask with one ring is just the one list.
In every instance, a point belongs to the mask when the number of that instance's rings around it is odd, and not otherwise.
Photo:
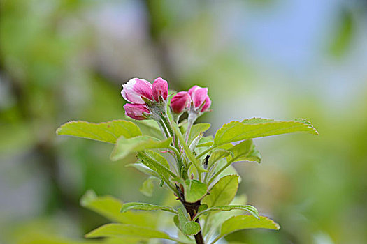
[(92, 190), (80, 199), (80, 205), (115, 222), (154, 227), (157, 221), (152, 213), (120, 213), (122, 201), (111, 196), (97, 197)]

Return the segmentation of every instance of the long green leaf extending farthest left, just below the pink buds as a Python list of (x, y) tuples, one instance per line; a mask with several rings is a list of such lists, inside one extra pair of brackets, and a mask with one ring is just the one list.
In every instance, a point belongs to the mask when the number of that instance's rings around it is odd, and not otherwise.
[(135, 123), (121, 119), (102, 123), (70, 121), (57, 128), (56, 134), (83, 137), (112, 144), (115, 144), (121, 136), (131, 138), (142, 135)]

